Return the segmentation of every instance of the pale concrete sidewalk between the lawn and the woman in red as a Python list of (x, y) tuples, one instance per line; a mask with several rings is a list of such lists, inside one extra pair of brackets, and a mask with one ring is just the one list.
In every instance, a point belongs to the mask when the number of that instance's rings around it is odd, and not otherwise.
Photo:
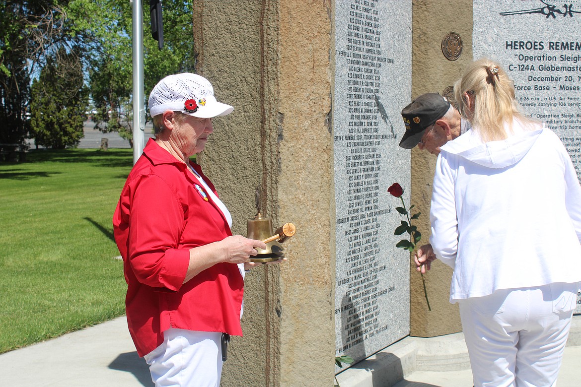
[(125, 317), (0, 355), (1, 385), (151, 387)]

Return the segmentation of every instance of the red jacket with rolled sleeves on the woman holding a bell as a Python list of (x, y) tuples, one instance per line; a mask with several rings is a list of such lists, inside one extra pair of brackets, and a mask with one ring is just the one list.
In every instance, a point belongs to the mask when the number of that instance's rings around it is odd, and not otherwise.
[[(200, 167), (192, 166), (216, 193)], [(182, 284), (189, 249), (232, 235), (187, 169), (150, 139), (113, 215), (128, 284), (127, 324), (139, 356), (157, 348), (168, 328), (242, 335), (244, 281), (237, 265), (218, 263)]]

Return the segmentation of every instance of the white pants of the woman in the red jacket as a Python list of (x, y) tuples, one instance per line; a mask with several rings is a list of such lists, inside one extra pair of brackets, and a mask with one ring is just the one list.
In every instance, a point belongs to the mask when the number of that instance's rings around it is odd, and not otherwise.
[(163, 343), (144, 356), (156, 387), (219, 387), (221, 332), (170, 328)]

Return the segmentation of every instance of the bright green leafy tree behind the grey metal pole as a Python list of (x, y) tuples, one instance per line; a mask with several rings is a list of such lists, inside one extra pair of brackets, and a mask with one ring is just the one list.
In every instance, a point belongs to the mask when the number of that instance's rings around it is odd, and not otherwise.
[[(92, 41), (89, 88), (96, 113), (95, 128), (119, 132), (132, 140), (132, 8), (116, 0), (73, 0), (68, 15), (74, 29)], [(149, 2), (144, 1), (145, 93), (166, 75), (193, 71), (192, 0), (164, 0), (164, 47), (157, 48), (150, 31)], [(145, 106), (145, 101), (143, 102)]]

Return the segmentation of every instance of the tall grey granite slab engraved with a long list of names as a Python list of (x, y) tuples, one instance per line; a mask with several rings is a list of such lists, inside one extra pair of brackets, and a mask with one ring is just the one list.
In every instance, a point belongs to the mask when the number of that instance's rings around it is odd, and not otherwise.
[(400, 183), (409, 205), (410, 151), (398, 144), (410, 101), (411, 1), (336, 1), (336, 355), (356, 362), (409, 334), (410, 255), (395, 247), (401, 202), (387, 189)]

